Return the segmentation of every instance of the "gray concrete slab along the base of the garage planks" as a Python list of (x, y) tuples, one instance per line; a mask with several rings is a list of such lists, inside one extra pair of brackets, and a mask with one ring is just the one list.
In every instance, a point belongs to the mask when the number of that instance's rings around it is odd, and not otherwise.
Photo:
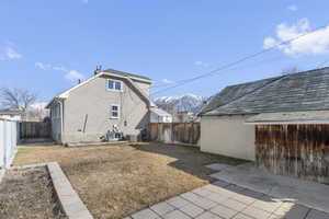
[(265, 173), (252, 163), (229, 166), (212, 177), (226, 181), (252, 191), (329, 212), (329, 186)]

